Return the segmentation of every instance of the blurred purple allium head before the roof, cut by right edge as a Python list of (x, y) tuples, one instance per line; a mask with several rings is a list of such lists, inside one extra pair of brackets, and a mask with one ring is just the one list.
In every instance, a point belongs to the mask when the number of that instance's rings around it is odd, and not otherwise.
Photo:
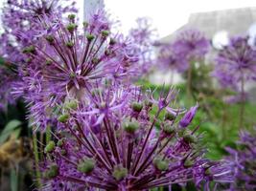
[(255, 80), (256, 52), (248, 45), (247, 37), (235, 36), (216, 56), (214, 76), (221, 86), (242, 93), (241, 83)]

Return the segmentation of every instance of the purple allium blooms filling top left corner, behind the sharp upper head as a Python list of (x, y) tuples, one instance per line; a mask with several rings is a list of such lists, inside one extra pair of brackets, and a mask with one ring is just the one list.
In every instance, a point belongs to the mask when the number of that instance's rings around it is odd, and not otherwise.
[[(63, 3), (65, 2), (65, 6)], [(25, 57), (21, 52), (22, 47), (27, 46), (31, 40), (36, 40), (36, 34), (41, 30), (38, 25), (38, 19), (44, 16), (49, 19), (53, 15), (61, 18), (62, 14), (67, 12), (75, 12), (75, 2), (67, 4), (66, 0), (52, 1), (27, 1), (27, 0), (8, 0), (4, 3), (4, 8), (1, 12), (2, 27), (4, 33), (0, 37), (0, 56), (4, 57), (6, 63), (15, 70), (9, 70), (6, 67), (0, 68), (1, 73), (1, 91), (0, 91), (0, 108), (6, 108), (8, 103), (14, 103), (15, 99), (12, 96), (13, 84), (19, 84), (21, 74), (18, 74), (20, 68), (25, 67)], [(22, 34), (26, 33), (27, 38), (22, 38)], [(35, 41), (37, 42), (37, 41)], [(10, 68), (10, 67), (9, 67)], [(18, 68), (18, 70), (16, 70)]]

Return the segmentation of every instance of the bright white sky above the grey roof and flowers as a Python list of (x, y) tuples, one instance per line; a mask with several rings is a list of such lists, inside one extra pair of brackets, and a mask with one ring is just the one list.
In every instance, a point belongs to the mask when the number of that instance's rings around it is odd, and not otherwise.
[(121, 20), (123, 32), (147, 16), (163, 37), (186, 24), (190, 13), (256, 7), (256, 0), (105, 0), (105, 7)]

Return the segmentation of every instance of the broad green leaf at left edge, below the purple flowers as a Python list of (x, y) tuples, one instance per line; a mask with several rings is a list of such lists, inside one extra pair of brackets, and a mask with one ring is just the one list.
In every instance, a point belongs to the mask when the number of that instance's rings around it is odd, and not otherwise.
[(0, 134), (0, 144), (5, 142), (12, 134), (18, 138), (21, 131), (20, 125), (21, 122), (19, 120), (11, 120)]

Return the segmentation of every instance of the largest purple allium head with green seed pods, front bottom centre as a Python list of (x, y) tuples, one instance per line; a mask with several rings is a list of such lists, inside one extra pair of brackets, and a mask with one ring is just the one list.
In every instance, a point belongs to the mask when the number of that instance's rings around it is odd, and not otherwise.
[[(180, 126), (183, 110), (170, 106), (173, 93), (154, 99), (136, 87), (108, 84), (92, 89), (88, 106), (64, 104), (58, 120), (65, 128), (44, 150), (45, 189), (148, 190), (195, 180), (207, 190), (212, 180), (232, 181), (228, 165), (203, 159), (197, 150), (198, 127)], [(192, 108), (181, 120), (195, 114)]]

